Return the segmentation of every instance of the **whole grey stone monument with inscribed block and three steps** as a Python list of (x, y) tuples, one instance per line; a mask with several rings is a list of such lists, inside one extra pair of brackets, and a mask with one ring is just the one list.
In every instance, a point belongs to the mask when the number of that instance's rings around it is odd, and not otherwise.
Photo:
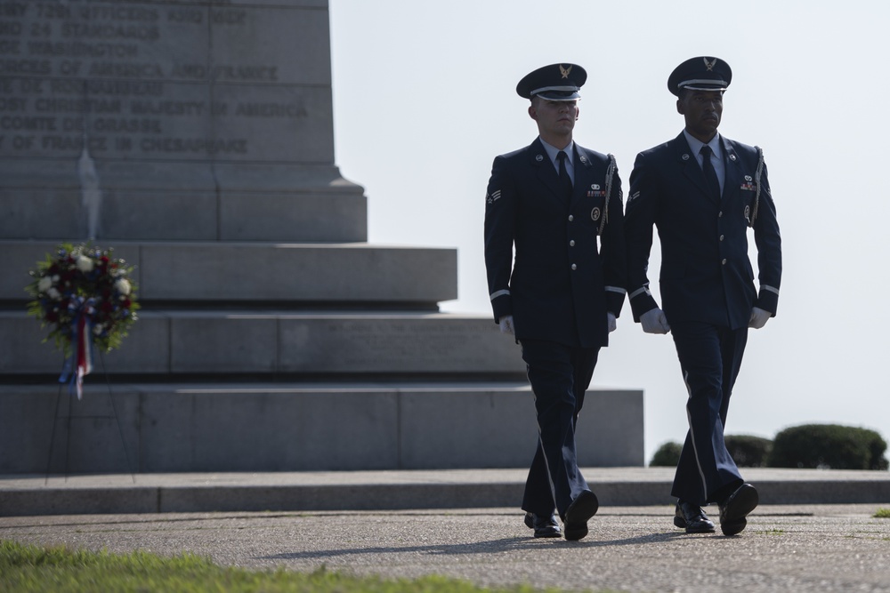
[[(528, 464), (518, 347), (333, 136), (327, 0), (0, 0), (0, 473)], [(143, 309), (71, 402), (24, 286), (85, 240)], [(588, 398), (581, 463), (641, 465), (642, 393)]]

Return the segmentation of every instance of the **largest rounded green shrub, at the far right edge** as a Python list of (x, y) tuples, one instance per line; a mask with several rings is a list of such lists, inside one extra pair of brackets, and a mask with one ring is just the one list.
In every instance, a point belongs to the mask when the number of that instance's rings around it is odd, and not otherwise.
[(887, 469), (886, 441), (877, 432), (839, 424), (805, 424), (773, 439), (771, 468)]

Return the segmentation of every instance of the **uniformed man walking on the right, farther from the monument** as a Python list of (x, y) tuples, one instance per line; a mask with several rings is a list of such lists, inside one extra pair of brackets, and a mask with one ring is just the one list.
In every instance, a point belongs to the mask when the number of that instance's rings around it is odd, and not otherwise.
[[(763, 152), (717, 133), (732, 70), (700, 56), (668, 77), (685, 128), (636, 156), (625, 234), (629, 300), (646, 333), (672, 333), (689, 393), (689, 431), (676, 468), (674, 524), (715, 531), (702, 506), (716, 502), (726, 535), (740, 533), (758, 502), (724, 444), (732, 386), (748, 327), (774, 317), (781, 283), (781, 237)], [(652, 226), (661, 242), (659, 287), (649, 291)], [(748, 258), (757, 248), (759, 291)]]

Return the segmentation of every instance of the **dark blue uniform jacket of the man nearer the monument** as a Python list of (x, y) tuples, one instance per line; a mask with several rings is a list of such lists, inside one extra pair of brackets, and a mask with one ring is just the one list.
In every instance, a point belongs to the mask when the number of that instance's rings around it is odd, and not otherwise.
[(599, 348), (608, 344), (606, 312), (618, 317), (624, 303), (621, 181), (615, 172), (607, 187), (610, 158), (574, 147), (570, 200), (561, 195), (559, 175), (539, 139), (495, 158), (486, 195), (485, 264), (495, 322), (512, 315), (517, 340)]

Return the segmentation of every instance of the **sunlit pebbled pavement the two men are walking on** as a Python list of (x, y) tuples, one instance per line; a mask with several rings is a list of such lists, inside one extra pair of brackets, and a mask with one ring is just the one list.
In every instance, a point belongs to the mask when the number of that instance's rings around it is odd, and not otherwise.
[(762, 505), (734, 537), (689, 535), (673, 509), (603, 507), (581, 541), (536, 540), (516, 509), (161, 513), (0, 517), (0, 540), (162, 555), (220, 565), (485, 586), (632, 592), (890, 591), (890, 519), (876, 505)]

